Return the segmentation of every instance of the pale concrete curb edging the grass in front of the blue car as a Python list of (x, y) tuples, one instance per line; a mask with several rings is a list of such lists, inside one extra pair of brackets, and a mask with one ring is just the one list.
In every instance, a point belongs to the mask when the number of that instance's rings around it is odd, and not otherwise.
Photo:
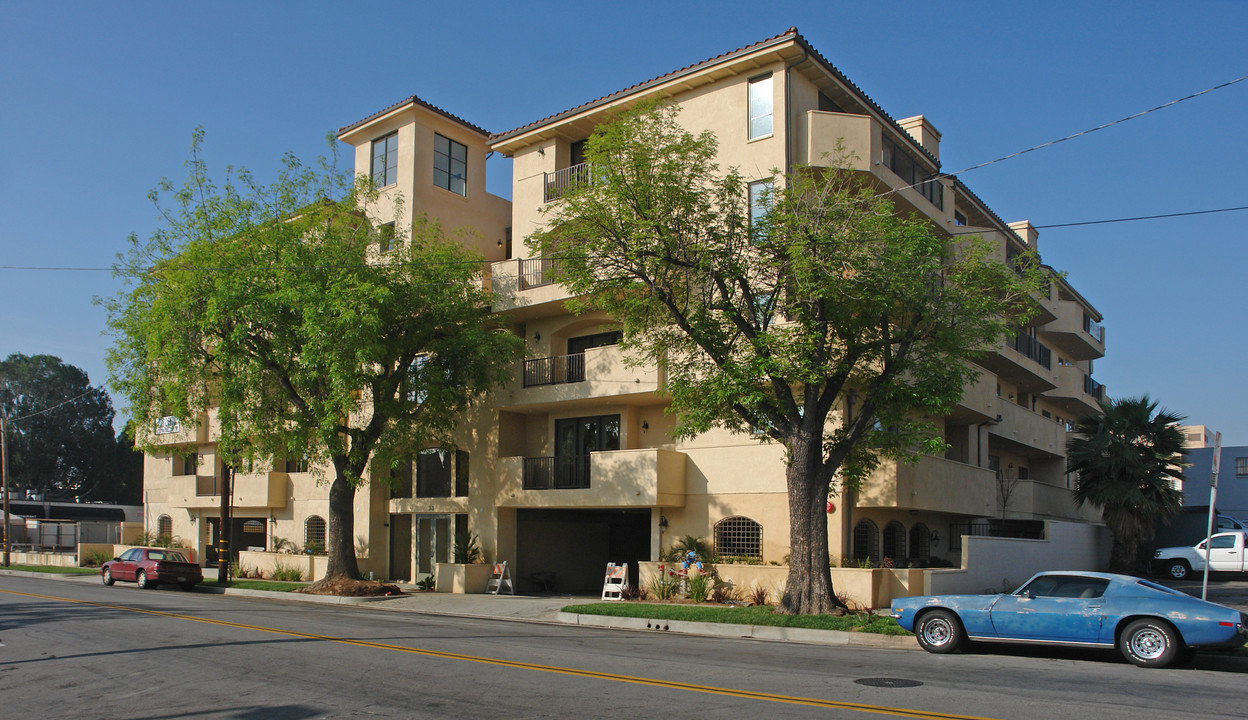
[(617, 630), (641, 630), (704, 635), (711, 638), (740, 638), (773, 643), (801, 643), (850, 648), (881, 648), (887, 650), (919, 650), (914, 638), (902, 635), (876, 635), (874, 633), (846, 633), (844, 630), (812, 630), (809, 628), (779, 628), (774, 625), (735, 625), (731, 623), (691, 623), (689, 620), (651, 620), (648, 618), (617, 618), (612, 615), (583, 615), (559, 613), (560, 623), (589, 628)]

